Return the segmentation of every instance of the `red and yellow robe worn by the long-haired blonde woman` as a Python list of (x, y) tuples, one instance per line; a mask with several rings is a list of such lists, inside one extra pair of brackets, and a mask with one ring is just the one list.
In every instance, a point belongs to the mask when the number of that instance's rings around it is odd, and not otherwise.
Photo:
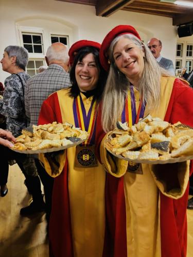
[[(134, 94), (137, 108), (138, 91)], [(184, 82), (162, 77), (160, 108), (150, 114), (170, 123), (181, 121), (193, 126), (192, 99), (192, 88)], [(113, 161), (104, 148), (107, 135), (104, 136), (100, 120), (98, 116), (97, 148), (98, 152), (100, 148), (101, 163), (108, 171), (108, 241), (104, 252), (112, 248), (114, 257), (186, 256), (189, 161), (153, 167), (142, 164), (143, 174), (126, 172), (128, 162), (118, 158)]]

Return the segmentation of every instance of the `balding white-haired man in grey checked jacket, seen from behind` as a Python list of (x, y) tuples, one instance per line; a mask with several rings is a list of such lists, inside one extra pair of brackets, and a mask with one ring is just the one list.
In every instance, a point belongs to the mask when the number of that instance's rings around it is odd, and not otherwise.
[[(71, 86), (68, 73), (68, 48), (62, 43), (54, 43), (48, 47), (45, 57), (48, 68), (31, 77), (25, 86), (25, 109), (30, 126), (38, 124), (42, 102), (52, 93)], [(46, 217), (49, 221), (51, 211), (51, 195), (54, 178), (50, 177), (36, 159), (38, 174), (44, 186)], [(26, 207), (25, 212), (31, 210)]]

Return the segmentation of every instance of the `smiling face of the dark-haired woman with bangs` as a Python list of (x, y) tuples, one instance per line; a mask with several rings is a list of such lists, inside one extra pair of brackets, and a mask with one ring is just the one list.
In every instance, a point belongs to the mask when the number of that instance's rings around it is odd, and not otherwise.
[(87, 54), (82, 61), (78, 61), (75, 76), (80, 91), (89, 91), (96, 87), (98, 81), (98, 68), (93, 53)]

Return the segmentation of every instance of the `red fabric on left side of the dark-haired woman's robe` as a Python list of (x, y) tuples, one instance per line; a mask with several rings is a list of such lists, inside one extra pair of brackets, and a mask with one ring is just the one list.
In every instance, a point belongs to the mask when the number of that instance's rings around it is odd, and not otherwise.
[[(49, 113), (45, 112), (45, 109)], [(39, 124), (47, 124), (53, 121), (62, 123), (57, 93), (52, 94), (51, 97), (43, 102), (38, 122)], [(54, 257), (73, 257), (67, 160), (63, 172), (54, 181), (52, 210), (54, 211), (51, 211), (49, 221), (49, 254)]]

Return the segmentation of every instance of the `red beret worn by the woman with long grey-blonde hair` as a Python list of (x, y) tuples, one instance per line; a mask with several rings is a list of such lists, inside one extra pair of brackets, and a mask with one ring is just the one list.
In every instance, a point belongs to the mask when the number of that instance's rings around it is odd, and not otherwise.
[(122, 35), (122, 34), (133, 34), (135, 35), (139, 40), (141, 40), (138, 32), (135, 28), (133, 28), (130, 25), (118, 25), (115, 28), (113, 28), (104, 38), (102, 41), (101, 47), (100, 47), (100, 63), (102, 67), (105, 70), (109, 70), (110, 64), (109, 64), (109, 58), (108, 58), (108, 49), (111, 45), (111, 42), (116, 38), (116, 36)]

